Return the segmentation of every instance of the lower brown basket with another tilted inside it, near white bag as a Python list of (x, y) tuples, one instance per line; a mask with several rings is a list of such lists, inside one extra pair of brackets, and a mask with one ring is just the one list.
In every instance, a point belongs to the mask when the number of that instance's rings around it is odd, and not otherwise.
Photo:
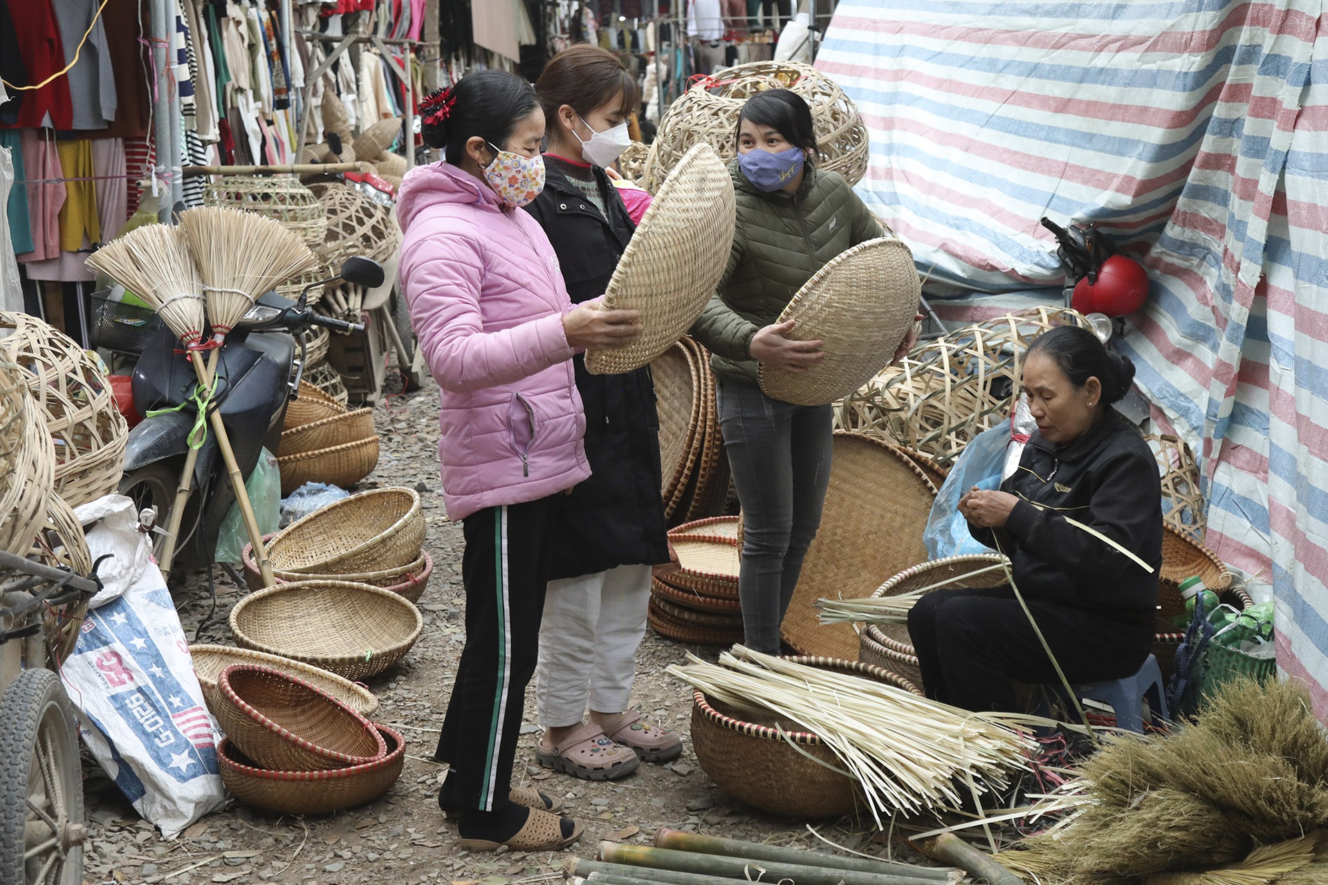
[(405, 739), (373, 723), (388, 752), (376, 762), (336, 771), (267, 771), (223, 739), (216, 748), (222, 783), (239, 801), (283, 815), (323, 815), (363, 805), (392, 788), (406, 760)]

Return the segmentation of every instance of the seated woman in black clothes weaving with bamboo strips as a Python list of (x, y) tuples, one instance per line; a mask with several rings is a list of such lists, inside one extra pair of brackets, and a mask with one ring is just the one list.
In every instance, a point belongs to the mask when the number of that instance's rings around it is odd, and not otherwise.
[[(1127, 358), (1084, 329), (1040, 337), (1023, 378), (1038, 430), (999, 491), (975, 488), (959, 504), (972, 536), (1011, 559), (1015, 584), (1072, 683), (1133, 675), (1153, 645), (1161, 480), (1147, 443), (1112, 407), (1133, 377)], [(908, 633), (936, 701), (1017, 713), (1015, 681), (1060, 683), (1009, 585), (928, 593), (910, 613)]]

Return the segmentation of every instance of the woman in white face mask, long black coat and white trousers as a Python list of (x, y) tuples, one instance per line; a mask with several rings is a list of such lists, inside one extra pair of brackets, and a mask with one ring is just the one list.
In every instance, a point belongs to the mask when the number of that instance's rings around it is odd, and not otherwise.
[[(554, 56), (535, 92), (548, 121), (546, 186), (526, 210), (558, 253), (572, 303), (604, 293), (635, 224), (604, 172), (627, 147), (635, 78), (604, 49)], [(563, 498), (540, 628), (540, 764), (591, 780), (683, 751), (677, 734), (631, 710), (651, 567), (669, 560), (648, 369), (592, 375), (575, 360), (591, 478)], [(587, 711), (590, 720), (584, 722)]]

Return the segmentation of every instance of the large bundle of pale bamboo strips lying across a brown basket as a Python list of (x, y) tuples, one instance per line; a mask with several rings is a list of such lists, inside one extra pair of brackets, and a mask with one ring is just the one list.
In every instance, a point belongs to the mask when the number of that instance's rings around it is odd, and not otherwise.
[(744, 646), (718, 665), (688, 655), (669, 674), (710, 701), (766, 710), (815, 732), (862, 787), (871, 813), (959, 804), (960, 788), (1004, 787), (1036, 743), (984, 714)]

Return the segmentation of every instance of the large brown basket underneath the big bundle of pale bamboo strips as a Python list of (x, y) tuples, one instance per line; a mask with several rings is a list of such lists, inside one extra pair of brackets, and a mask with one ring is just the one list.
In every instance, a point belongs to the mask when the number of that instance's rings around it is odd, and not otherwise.
[[(855, 661), (788, 658), (922, 694), (903, 677)], [(819, 736), (774, 714), (736, 710), (692, 693), (692, 750), (720, 789), (762, 811), (788, 817), (837, 817), (858, 803), (857, 782)], [(782, 734), (778, 724), (784, 728)], [(797, 744), (789, 746), (790, 742)]]

